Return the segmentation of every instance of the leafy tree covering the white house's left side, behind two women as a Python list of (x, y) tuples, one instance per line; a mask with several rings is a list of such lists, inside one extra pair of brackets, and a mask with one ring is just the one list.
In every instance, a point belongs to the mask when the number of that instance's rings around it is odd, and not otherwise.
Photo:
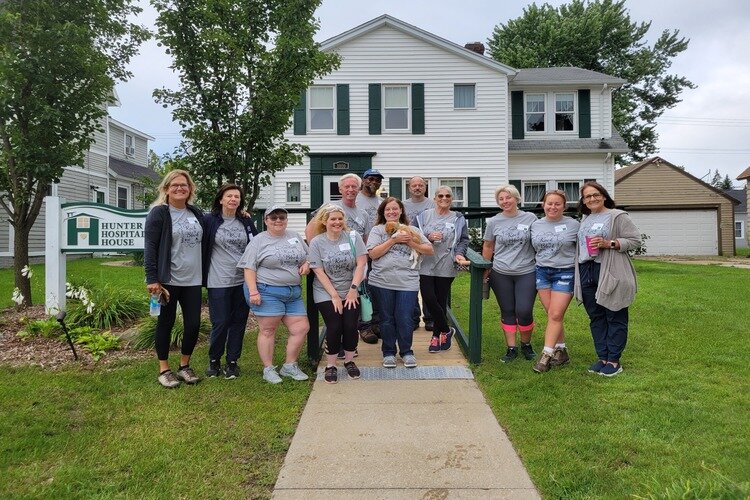
[(180, 77), (178, 90), (154, 97), (174, 107), (199, 200), (234, 182), (252, 208), (274, 173), (307, 151), (283, 136), (300, 93), (338, 66), (338, 56), (313, 41), (320, 0), (152, 3), (158, 39)]

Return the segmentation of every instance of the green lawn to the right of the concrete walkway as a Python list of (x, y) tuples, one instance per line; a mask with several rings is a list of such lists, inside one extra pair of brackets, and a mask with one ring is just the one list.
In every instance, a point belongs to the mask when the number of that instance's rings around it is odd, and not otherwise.
[[(539, 375), (529, 362), (503, 365), (493, 297), (484, 302), (477, 382), (544, 497), (746, 497), (750, 270), (636, 267), (640, 291), (622, 375), (586, 372), (596, 355), (575, 303), (566, 316), (570, 366)], [(464, 276), (453, 296), (467, 295)], [(459, 318), (467, 309), (456, 308)], [(540, 352), (546, 321), (539, 304), (535, 319)]]

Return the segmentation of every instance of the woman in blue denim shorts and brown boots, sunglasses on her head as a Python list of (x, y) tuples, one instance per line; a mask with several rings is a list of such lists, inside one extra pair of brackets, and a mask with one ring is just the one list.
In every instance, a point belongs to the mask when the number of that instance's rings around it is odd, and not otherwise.
[(547, 312), (544, 351), (534, 365), (537, 373), (570, 361), (563, 320), (573, 298), (576, 237), (580, 224), (563, 215), (567, 203), (563, 191), (547, 191), (542, 198), (544, 217), (531, 224), (531, 245), (536, 251), (536, 290)]

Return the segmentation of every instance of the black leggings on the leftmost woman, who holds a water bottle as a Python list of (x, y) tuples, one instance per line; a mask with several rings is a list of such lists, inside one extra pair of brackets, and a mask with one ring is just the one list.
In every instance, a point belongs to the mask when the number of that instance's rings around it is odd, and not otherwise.
[(177, 317), (177, 303), (182, 308), (185, 333), (182, 337), (182, 354), (193, 354), (198, 342), (198, 328), (201, 324), (201, 286), (163, 285), (169, 292), (169, 302), (161, 307), (156, 322), (156, 355), (159, 361), (169, 359), (169, 345), (172, 343), (172, 327)]

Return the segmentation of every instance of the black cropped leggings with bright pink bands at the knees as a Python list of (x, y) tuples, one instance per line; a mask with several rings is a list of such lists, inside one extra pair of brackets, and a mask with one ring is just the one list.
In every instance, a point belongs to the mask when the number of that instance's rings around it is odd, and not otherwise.
[(534, 299), (536, 299), (536, 271), (519, 276), (490, 273), (490, 287), (500, 306), (503, 330), (531, 330), (534, 326)]

